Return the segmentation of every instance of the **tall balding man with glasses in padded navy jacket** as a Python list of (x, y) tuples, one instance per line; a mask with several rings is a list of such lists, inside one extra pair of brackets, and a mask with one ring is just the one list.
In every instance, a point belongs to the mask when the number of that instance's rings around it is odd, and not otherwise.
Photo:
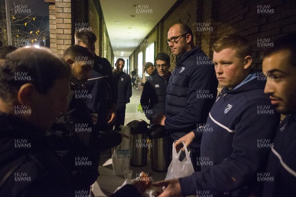
[[(206, 123), (217, 96), (218, 81), (212, 61), (194, 46), (193, 34), (187, 25), (173, 25), (167, 42), (177, 56), (177, 64), (167, 88), (166, 114), (158, 114), (154, 121), (170, 131), (173, 142)], [(191, 148), (199, 152), (200, 142)], [(196, 159), (193, 162), (196, 166)]]

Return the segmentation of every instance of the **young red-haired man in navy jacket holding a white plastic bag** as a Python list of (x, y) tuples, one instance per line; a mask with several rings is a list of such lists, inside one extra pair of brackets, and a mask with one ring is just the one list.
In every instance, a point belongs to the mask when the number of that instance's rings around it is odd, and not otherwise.
[(216, 76), (224, 88), (205, 127), (180, 138), (188, 146), (202, 132), (201, 157), (196, 158), (202, 170), (156, 182), (154, 186), (166, 187), (159, 197), (262, 195), (265, 179), (261, 176), (280, 115), (264, 95), (266, 78), (251, 68), (248, 40), (235, 34), (224, 36), (215, 42), (213, 51)]

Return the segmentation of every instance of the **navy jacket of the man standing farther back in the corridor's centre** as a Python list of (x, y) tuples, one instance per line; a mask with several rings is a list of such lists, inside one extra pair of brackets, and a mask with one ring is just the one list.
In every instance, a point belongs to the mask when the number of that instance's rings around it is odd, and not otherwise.
[(113, 77), (118, 87), (117, 110), (125, 109), (125, 104), (130, 102), (132, 96), (131, 77), (125, 72), (117, 74), (113, 72)]

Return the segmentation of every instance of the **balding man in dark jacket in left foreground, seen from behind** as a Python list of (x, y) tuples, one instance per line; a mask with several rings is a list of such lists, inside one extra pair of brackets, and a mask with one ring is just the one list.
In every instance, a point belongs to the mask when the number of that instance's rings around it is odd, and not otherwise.
[(70, 197), (73, 177), (45, 133), (67, 111), (70, 68), (46, 48), (22, 47), (0, 66), (0, 196)]

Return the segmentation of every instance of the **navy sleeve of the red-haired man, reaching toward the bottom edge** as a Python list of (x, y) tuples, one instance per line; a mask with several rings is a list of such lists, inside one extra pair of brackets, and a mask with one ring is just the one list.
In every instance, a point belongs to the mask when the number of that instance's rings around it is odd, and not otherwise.
[[(183, 196), (209, 190), (224, 193), (257, 183), (257, 172), (264, 172), (270, 148), (260, 148), (259, 139), (272, 139), (280, 121), (280, 115), (258, 114), (257, 106), (270, 105), (270, 101), (257, 99), (246, 106), (236, 120), (232, 141), (232, 153), (221, 164), (180, 178)], [(214, 143), (214, 142), (213, 142)]]

